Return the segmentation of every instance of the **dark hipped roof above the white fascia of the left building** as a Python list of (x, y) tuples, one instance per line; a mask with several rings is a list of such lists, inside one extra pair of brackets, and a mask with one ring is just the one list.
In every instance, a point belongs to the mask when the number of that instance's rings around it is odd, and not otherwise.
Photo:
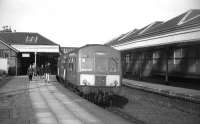
[(0, 37), (9, 45), (57, 45), (38, 33), (0, 32)]

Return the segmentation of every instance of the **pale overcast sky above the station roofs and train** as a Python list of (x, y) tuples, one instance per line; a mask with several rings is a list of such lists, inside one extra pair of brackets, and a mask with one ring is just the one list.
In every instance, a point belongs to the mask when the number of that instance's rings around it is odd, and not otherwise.
[(190, 9), (200, 9), (200, 0), (0, 0), (0, 26), (80, 47), (103, 44)]

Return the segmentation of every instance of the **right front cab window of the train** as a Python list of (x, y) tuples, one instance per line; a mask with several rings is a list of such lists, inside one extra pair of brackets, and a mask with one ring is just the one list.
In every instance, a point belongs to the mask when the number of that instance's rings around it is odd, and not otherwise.
[(119, 60), (117, 58), (109, 58), (108, 61), (109, 72), (118, 72), (119, 70)]

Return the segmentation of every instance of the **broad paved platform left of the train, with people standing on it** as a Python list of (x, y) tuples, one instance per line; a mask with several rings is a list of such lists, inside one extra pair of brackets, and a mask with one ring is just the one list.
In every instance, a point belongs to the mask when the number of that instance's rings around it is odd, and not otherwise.
[[(54, 79), (54, 78), (52, 78)], [(10, 77), (0, 87), (0, 124), (129, 124), (55, 80)]]

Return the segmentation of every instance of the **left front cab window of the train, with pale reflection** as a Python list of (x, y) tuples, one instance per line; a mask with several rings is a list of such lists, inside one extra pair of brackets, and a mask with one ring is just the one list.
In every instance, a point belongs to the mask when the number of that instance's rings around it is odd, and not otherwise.
[(92, 71), (93, 70), (93, 59), (90, 57), (82, 57), (81, 58), (81, 71)]

